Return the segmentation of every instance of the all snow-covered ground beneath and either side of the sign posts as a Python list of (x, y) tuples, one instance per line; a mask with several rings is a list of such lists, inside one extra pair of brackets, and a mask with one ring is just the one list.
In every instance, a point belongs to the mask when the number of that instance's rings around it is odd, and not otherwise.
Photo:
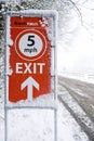
[[(3, 89), (0, 91), (3, 95)], [(0, 103), (0, 141), (4, 141), (3, 97)], [(89, 141), (78, 123), (57, 104), (58, 141)], [(54, 141), (53, 110), (10, 110), (8, 113), (8, 141)]]

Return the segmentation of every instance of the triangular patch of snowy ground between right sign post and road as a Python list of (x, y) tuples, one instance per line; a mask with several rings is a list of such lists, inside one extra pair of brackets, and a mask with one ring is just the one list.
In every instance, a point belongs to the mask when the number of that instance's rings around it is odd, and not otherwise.
[(89, 141), (66, 107), (58, 104), (58, 141)]

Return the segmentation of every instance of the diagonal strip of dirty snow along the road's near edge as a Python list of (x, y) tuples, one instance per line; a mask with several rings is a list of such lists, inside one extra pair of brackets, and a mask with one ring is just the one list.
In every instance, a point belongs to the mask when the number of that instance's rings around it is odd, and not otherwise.
[[(61, 87), (63, 82), (58, 80)], [(63, 89), (63, 88), (62, 88)], [(67, 88), (68, 90), (68, 88)], [(78, 102), (70, 95), (69, 91), (61, 90), (58, 100), (66, 106), (70, 114), (75, 117), (82, 130), (88, 134), (90, 141), (94, 141), (94, 123), (88, 117), (86, 113), (82, 110)]]

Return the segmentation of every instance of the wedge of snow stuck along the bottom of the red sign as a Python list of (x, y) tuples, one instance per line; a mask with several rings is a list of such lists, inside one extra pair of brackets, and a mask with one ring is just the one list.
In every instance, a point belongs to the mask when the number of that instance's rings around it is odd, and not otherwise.
[(56, 102), (54, 101), (54, 93), (48, 93), (40, 95), (32, 101), (22, 100), (17, 103), (8, 102), (9, 107), (56, 107)]

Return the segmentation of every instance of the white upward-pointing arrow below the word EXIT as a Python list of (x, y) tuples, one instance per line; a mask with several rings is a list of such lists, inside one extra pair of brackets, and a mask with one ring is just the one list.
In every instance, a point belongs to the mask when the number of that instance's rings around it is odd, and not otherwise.
[(32, 78), (28, 77), (21, 86), (21, 89), (23, 90), (25, 87), (28, 87), (27, 89), (27, 99), (29, 101), (32, 100), (32, 87), (35, 87), (37, 90), (39, 90), (39, 84)]

